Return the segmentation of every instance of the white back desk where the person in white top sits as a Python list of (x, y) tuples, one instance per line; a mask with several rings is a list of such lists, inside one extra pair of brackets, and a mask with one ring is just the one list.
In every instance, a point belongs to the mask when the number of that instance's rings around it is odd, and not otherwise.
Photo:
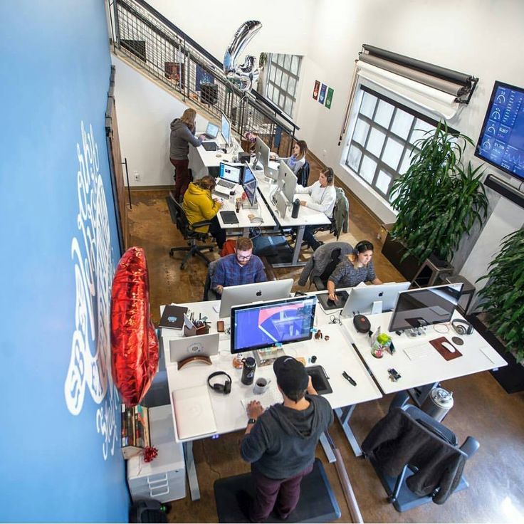
[[(290, 262), (273, 264), (276, 268), (285, 267), (296, 267), (305, 266), (305, 262), (299, 262), (300, 248), (302, 246), (302, 239), (304, 236), (305, 226), (324, 226), (331, 224), (330, 219), (325, 216), (321, 211), (310, 209), (309, 207), (300, 206), (298, 216), (296, 219), (291, 217), (291, 209), (288, 206), (288, 210), (285, 213), (285, 217), (282, 218), (278, 213), (275, 204), (271, 201), (271, 194), (276, 189), (276, 184), (268, 182), (268, 179), (264, 176), (261, 171), (253, 171), (258, 182), (258, 191), (266, 201), (269, 210), (278, 221), (278, 225), (281, 227), (295, 227), (297, 229), (297, 237), (295, 239), (295, 248), (293, 249), (293, 258)], [(300, 200), (311, 201), (311, 196), (308, 194), (296, 194)]]

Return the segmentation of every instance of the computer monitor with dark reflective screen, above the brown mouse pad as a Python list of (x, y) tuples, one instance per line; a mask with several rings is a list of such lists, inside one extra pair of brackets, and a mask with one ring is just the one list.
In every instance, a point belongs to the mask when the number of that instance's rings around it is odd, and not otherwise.
[(449, 322), (461, 293), (461, 283), (402, 291), (397, 298), (389, 331)]

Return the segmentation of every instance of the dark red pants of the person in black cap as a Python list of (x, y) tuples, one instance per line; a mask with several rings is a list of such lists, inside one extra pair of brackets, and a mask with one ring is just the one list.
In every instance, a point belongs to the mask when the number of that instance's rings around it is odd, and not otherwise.
[(262, 522), (273, 508), (280, 518), (287, 518), (296, 508), (300, 498), (302, 478), (313, 470), (313, 464), (291, 478), (268, 478), (251, 468), (255, 486), (255, 500), (249, 510), (251, 522)]

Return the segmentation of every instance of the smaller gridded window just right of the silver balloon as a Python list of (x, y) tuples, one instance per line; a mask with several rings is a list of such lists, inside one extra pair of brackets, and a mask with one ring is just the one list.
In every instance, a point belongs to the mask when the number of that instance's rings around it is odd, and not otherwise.
[(286, 115), (292, 117), (302, 57), (272, 53), (268, 62), (266, 96)]

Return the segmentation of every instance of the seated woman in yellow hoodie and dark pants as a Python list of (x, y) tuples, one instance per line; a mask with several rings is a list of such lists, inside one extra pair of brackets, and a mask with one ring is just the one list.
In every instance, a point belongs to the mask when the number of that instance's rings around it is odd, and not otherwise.
[[(222, 207), (222, 202), (211, 196), (214, 187), (215, 179), (209, 176), (191, 182), (184, 193), (182, 207), (186, 212), (189, 224), (203, 220), (211, 221), (209, 233), (214, 236), (219, 249), (221, 249), (226, 241), (226, 231), (220, 227), (219, 219), (216, 218), (216, 214)], [(196, 231), (208, 231), (208, 226), (199, 227)]]

